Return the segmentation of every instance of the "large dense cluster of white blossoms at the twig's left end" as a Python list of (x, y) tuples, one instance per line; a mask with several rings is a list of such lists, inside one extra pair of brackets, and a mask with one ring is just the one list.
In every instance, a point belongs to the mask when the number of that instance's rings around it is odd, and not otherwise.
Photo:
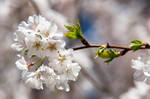
[(19, 51), (16, 66), (26, 84), (36, 89), (68, 92), (69, 81), (76, 81), (81, 69), (73, 62), (73, 50), (65, 49), (63, 34), (42, 16), (30, 16), (15, 32), (12, 48)]

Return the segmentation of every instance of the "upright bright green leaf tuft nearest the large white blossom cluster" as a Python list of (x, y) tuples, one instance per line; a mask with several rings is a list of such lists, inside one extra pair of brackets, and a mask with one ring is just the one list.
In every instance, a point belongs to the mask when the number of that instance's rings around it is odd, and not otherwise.
[(73, 25), (73, 26), (65, 25), (65, 27), (70, 31), (68, 33), (64, 33), (64, 35), (66, 37), (68, 37), (69, 39), (79, 39), (79, 40), (83, 39), (83, 34), (82, 34), (82, 31), (81, 31), (79, 21), (77, 21), (76, 25)]

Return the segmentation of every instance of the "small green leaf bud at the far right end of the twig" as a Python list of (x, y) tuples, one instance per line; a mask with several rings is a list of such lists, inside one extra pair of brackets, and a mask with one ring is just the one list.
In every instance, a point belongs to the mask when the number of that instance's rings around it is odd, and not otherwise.
[(139, 40), (134, 40), (130, 43), (130, 48), (133, 50), (133, 51), (136, 51), (138, 50), (139, 48), (141, 48), (141, 46), (143, 46), (144, 43), (142, 41), (139, 41)]

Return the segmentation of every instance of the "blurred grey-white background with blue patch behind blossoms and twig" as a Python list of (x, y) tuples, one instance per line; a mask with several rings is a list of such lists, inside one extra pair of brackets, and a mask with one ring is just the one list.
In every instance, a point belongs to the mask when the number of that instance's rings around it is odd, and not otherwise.
[[(10, 45), (18, 24), (37, 13), (56, 22), (62, 32), (64, 25), (79, 19), (90, 43), (128, 46), (134, 39), (150, 43), (150, 0), (0, 0), (0, 99), (150, 99), (149, 86), (134, 82), (131, 69), (137, 56), (150, 58), (146, 50), (130, 52), (110, 64), (94, 59), (96, 49), (76, 51), (82, 70), (78, 80), (70, 82), (69, 93), (25, 86)], [(67, 48), (81, 45), (78, 40), (66, 42)]]

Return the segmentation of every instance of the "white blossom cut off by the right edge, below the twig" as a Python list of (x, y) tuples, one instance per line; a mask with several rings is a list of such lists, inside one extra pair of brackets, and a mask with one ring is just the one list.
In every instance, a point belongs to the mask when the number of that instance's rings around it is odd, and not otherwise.
[(132, 60), (132, 68), (136, 70), (134, 73), (135, 80), (150, 84), (150, 61), (144, 63), (142, 58), (138, 57), (137, 60)]

